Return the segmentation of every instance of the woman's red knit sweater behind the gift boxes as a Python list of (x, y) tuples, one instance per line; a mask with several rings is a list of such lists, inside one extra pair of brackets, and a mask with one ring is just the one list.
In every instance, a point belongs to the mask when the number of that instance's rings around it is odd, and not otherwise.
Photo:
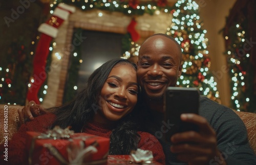
[[(35, 118), (33, 121), (27, 122), (20, 126), (17, 133), (8, 142), (8, 163), (4, 160), (4, 144), (0, 146), (0, 164), (28, 164), (28, 153), (25, 152), (27, 139), (26, 131), (46, 132), (49, 126), (53, 124), (56, 116), (54, 114), (46, 114)], [(83, 132), (95, 134), (103, 137), (110, 137), (111, 129), (100, 123), (88, 123), (83, 128)], [(155, 136), (147, 132), (138, 132), (140, 142), (138, 148), (143, 150), (151, 150), (154, 155), (154, 160), (164, 164), (165, 156), (161, 144)], [(22, 163), (23, 162), (23, 163)]]

